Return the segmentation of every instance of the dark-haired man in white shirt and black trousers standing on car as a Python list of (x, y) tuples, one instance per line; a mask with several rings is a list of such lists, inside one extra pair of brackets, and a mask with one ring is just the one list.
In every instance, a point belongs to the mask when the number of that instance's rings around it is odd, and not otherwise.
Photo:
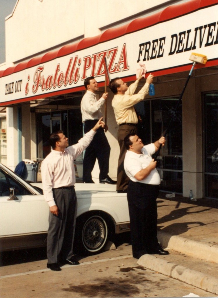
[[(98, 83), (94, 77), (87, 77), (84, 81), (84, 86), (87, 91), (81, 101), (81, 113), (84, 123), (84, 133), (86, 133), (98, 122), (98, 119), (102, 117), (101, 107), (105, 103), (108, 93), (103, 93), (102, 97), (98, 99)], [(104, 129), (107, 131), (108, 126), (104, 125), (103, 128), (99, 128), (92, 142), (86, 148), (83, 160), (83, 183), (94, 183), (92, 180), (92, 170), (96, 158), (98, 159), (100, 169), (99, 182), (109, 184), (117, 183), (117, 181), (112, 180), (108, 176), (111, 148), (105, 136)]]

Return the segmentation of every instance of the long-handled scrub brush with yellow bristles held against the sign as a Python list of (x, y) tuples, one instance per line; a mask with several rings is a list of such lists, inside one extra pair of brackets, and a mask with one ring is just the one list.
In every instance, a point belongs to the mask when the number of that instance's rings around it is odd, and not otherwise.
[[(178, 100), (178, 102), (177, 102), (177, 105), (176, 105), (176, 108), (175, 108), (175, 110), (174, 110), (174, 113), (175, 113), (175, 111), (177, 110), (177, 107), (179, 106), (180, 101), (182, 100), (183, 93), (184, 93), (185, 88), (186, 88), (186, 86), (187, 86), (187, 84), (188, 84), (188, 81), (189, 81), (189, 79), (190, 79), (190, 77), (191, 77), (191, 74), (192, 74), (192, 72), (193, 72), (193, 69), (194, 69), (195, 64), (196, 64), (196, 63), (206, 64), (206, 63), (207, 63), (207, 56), (202, 55), (202, 54), (197, 54), (197, 53), (191, 53), (191, 56), (189, 57), (189, 60), (193, 61), (193, 64), (192, 64), (191, 70), (190, 70), (190, 72), (189, 72), (189, 74), (188, 74), (187, 80), (186, 80), (186, 82), (185, 82), (185, 86), (183, 87), (183, 91), (182, 91), (182, 93), (180, 94), (180, 98), (179, 98), (179, 100)], [(169, 127), (170, 127), (171, 122), (172, 122), (172, 119), (173, 119), (173, 118), (171, 117), (170, 122), (169, 122), (169, 124), (168, 124), (168, 126), (167, 126), (167, 128), (166, 128), (166, 130), (165, 130), (165, 132), (164, 132), (164, 134), (163, 134), (164, 137), (166, 137), (166, 135), (167, 135), (167, 133), (168, 133)], [(157, 150), (157, 152), (156, 152), (156, 154), (155, 154), (155, 156), (154, 156), (154, 160), (155, 160), (155, 161), (157, 160), (157, 156), (158, 156), (158, 154), (160, 153), (160, 149), (161, 149), (161, 147), (162, 147), (162, 144), (160, 144), (160, 147), (159, 147), (159, 149)]]

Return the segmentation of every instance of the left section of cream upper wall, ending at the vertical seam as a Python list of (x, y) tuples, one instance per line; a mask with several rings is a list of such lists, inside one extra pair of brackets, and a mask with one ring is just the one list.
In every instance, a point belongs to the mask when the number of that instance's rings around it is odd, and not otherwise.
[(6, 63), (83, 38), (84, 2), (19, 0), (5, 22), (5, 35)]

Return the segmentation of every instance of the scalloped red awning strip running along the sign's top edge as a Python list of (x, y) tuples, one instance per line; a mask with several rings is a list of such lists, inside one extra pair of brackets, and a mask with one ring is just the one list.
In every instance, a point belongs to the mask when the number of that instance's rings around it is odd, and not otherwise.
[(69, 55), (81, 49), (95, 46), (99, 43), (118, 38), (125, 34), (153, 26), (160, 22), (177, 18), (181, 15), (185, 15), (195, 10), (202, 9), (204, 7), (208, 7), (217, 3), (218, 0), (191, 0), (182, 4), (171, 5), (169, 7), (166, 7), (159, 13), (155, 13), (145, 18), (137, 18), (129, 24), (120, 26), (118, 28), (108, 29), (102, 34), (95, 37), (84, 38), (78, 43), (63, 46), (61, 49), (58, 49), (56, 51), (48, 52), (43, 56), (32, 58), (28, 62), (22, 62), (16, 66), (9, 67), (3, 71), (0, 71), (0, 77), (11, 75), (12, 73), (36, 66), (40, 63), (45, 63), (55, 58)]

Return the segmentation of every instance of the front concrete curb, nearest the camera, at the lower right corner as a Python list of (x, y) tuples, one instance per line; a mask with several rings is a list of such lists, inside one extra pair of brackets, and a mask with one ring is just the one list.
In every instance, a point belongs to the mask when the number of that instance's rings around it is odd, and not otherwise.
[(218, 295), (218, 279), (211, 275), (168, 262), (150, 254), (141, 256), (137, 264)]

